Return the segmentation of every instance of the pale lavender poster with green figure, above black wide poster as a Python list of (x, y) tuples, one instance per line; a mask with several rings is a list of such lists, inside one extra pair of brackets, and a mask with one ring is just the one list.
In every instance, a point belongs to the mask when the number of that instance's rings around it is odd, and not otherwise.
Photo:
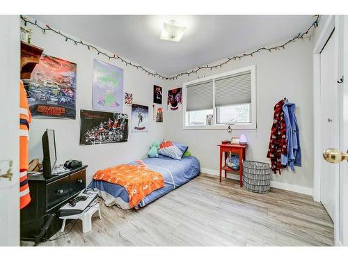
[(123, 111), (123, 69), (93, 61), (93, 109)]

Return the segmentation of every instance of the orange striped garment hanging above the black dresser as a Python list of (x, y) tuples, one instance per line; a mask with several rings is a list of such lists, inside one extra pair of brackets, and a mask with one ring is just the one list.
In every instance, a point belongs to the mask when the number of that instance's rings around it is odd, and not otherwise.
[(19, 81), (19, 197), (20, 209), (30, 203), (30, 193), (28, 185), (28, 145), (29, 145), (29, 123), (31, 122), (31, 113), (29, 111), (26, 91), (23, 81)]

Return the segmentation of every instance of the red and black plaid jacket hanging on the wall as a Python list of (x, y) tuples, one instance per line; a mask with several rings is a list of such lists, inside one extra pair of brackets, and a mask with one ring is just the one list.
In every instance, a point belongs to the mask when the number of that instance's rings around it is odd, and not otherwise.
[(280, 168), (285, 168), (281, 164), (281, 155), (287, 154), (286, 126), (283, 112), (285, 101), (281, 100), (274, 106), (274, 121), (271, 128), (269, 148), (267, 158), (271, 159), (271, 169), (277, 173)]

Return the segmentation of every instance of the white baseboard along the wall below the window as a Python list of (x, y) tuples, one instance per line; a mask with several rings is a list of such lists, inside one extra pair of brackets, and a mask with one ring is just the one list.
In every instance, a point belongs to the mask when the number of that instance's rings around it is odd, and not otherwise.
[[(211, 168), (200, 168), (200, 172), (219, 176), (219, 171), (211, 169)], [(227, 173), (227, 177), (232, 180), (239, 180), (239, 175), (237, 174)], [(313, 196), (313, 189), (309, 187), (302, 187), (299, 185), (288, 184), (288, 183), (278, 182), (274, 180), (271, 180), (271, 187)]]

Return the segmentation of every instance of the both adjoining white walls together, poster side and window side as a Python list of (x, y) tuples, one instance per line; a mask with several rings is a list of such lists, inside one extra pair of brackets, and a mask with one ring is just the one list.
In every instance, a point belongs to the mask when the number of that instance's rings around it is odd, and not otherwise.
[[(184, 81), (219, 74), (229, 70), (256, 65), (257, 77), (257, 123), (258, 129), (234, 130), (233, 136), (245, 134), (249, 141), (247, 159), (269, 161), (266, 158), (269, 144), (274, 104), (283, 97), (295, 102), (296, 115), (300, 127), (302, 167), (296, 172), (283, 170), (283, 174), (273, 175), (272, 180), (281, 184), (290, 184), (301, 189), (313, 187), (313, 90), (312, 90), (312, 49), (313, 42), (298, 40), (285, 50), (269, 54), (262, 52), (253, 58), (234, 61), (218, 70), (205, 70), (190, 77), (175, 81), (162, 81), (148, 77), (141, 71), (125, 67), (117, 61), (109, 61), (97, 56), (86, 47), (74, 46), (71, 42), (53, 33), (43, 35), (33, 29), (33, 44), (45, 49), (45, 54), (77, 63), (77, 119), (33, 119), (31, 124), (30, 157), (42, 159), (41, 136), (46, 128), (56, 130), (58, 162), (66, 159), (81, 159), (88, 164), (88, 180), (99, 168), (113, 166), (144, 157), (148, 145), (157, 139), (173, 139), (189, 145), (193, 155), (200, 159), (203, 168), (217, 170), (219, 150), (217, 144), (230, 139), (226, 130), (182, 129), (182, 113), (164, 111), (164, 123), (152, 121), (152, 86), (157, 84), (166, 90), (181, 87)], [(82, 39), (83, 40), (83, 39)], [(92, 109), (92, 70), (93, 58), (117, 65), (124, 69), (125, 91), (133, 93), (134, 103), (148, 105), (150, 108), (150, 132), (132, 134), (129, 132), (127, 143), (105, 145), (79, 145), (79, 110)], [(164, 93), (164, 104), (166, 93)], [(130, 108), (125, 107), (130, 115)]]

